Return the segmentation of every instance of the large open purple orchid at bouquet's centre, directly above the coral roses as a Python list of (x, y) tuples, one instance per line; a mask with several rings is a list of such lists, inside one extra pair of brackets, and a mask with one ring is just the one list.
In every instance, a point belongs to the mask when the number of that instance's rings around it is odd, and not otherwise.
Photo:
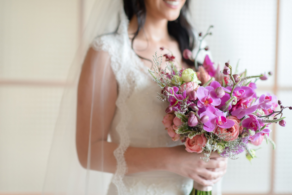
[(204, 123), (204, 130), (211, 132), (216, 126), (221, 128), (231, 128), (234, 126), (234, 121), (226, 119), (226, 114), (213, 106), (207, 107), (206, 111), (200, 114), (200, 118), (205, 115), (209, 117), (209, 120)]

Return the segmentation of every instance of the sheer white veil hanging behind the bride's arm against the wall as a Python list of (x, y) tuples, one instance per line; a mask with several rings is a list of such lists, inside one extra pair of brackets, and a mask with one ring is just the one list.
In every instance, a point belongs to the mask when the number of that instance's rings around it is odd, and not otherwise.
[[(96, 36), (115, 32), (121, 0), (95, 0), (67, 75), (47, 161), (42, 194), (106, 194), (112, 174), (83, 168), (76, 151), (77, 88), (84, 58)], [(92, 113), (91, 113), (92, 118)], [(90, 144), (89, 144), (90, 145)], [(90, 154), (90, 147), (88, 147)], [(90, 155), (88, 155), (90, 159)], [(100, 161), (103, 161), (102, 157)], [(88, 161), (90, 162), (90, 161)]]

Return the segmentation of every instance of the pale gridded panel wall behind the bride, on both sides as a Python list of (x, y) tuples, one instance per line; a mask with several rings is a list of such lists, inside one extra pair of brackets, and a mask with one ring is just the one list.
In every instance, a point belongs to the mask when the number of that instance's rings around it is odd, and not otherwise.
[[(259, 93), (276, 92), (290, 106), (292, 1), (279, 2), (279, 20), (277, 0), (192, 0), (192, 16), (198, 31), (214, 25), (207, 42), (215, 62), (235, 64), (240, 58), (240, 70), (247, 68), (250, 74), (278, 70), (277, 76), (258, 83)], [(92, 3), (84, 1), (84, 20)], [(79, 24), (80, 0), (0, 0), (1, 193), (41, 191)], [(285, 116), (292, 113), (285, 110)], [(263, 143), (252, 164), (244, 155), (230, 160), (223, 192), (292, 194), (291, 128), (287, 120), (285, 128), (274, 129), (275, 153)]]

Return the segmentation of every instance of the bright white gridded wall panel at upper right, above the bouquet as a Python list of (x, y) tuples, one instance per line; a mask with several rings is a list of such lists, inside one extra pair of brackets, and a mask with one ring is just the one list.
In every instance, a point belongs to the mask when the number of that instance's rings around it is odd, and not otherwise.
[[(276, 0), (192, 0), (192, 17), (199, 32), (213, 25), (206, 38), (213, 60), (221, 67), (230, 60), (239, 70), (261, 74), (274, 70)], [(274, 77), (260, 86), (273, 86)]]

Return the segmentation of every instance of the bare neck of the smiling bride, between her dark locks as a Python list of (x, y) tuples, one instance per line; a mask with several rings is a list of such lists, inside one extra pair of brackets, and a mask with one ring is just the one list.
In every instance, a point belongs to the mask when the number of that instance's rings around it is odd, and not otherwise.
[[(171, 37), (168, 34), (167, 29), (168, 21), (166, 19), (157, 19), (152, 17), (151, 15), (146, 16), (145, 24), (143, 28), (138, 32), (138, 35), (135, 39), (142, 39), (148, 41), (159, 42), (162, 40), (170, 40)], [(136, 15), (133, 16), (129, 23), (128, 33), (133, 37), (133, 34), (138, 29), (138, 20)], [(132, 38), (131, 37), (131, 38)]]

